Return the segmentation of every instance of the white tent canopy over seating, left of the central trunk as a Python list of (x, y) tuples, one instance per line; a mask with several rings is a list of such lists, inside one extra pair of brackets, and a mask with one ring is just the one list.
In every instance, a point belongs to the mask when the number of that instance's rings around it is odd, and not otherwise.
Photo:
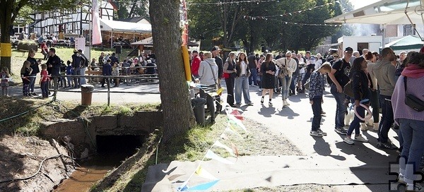
[(100, 19), (100, 30), (114, 32), (152, 32), (150, 24)]

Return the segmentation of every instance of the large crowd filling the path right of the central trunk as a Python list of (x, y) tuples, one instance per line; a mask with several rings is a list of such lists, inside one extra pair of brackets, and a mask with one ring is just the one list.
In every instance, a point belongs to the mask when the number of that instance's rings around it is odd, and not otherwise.
[[(345, 135), (343, 141), (352, 145), (355, 141), (369, 142), (361, 131), (372, 127), (370, 131), (378, 133), (377, 148), (397, 150), (405, 159), (400, 164), (399, 182), (406, 184), (407, 190), (417, 190), (421, 186), (414, 184), (414, 172), (418, 171), (424, 152), (424, 47), (420, 52), (401, 52), (399, 56), (389, 47), (382, 49), (381, 54), (368, 49), (360, 51), (362, 55), (346, 47), (342, 58), (337, 53), (326, 53), (324, 58), (309, 51), (305, 56), (288, 51), (275, 57), (271, 53), (247, 56), (244, 52), (230, 52), (223, 62), (219, 47), (213, 47), (211, 52), (192, 53), (191, 70), (208, 89), (216, 89), (224, 79), (226, 102), (231, 107), (240, 107), (242, 95), (245, 104), (253, 104), (249, 86), (259, 86), (263, 106), (266, 93), (269, 93), (269, 106), (273, 106), (273, 93), (281, 93), (283, 109), (290, 105), (288, 97), (302, 94), (307, 88), (313, 112), (310, 136), (314, 137), (326, 136), (320, 122), (325, 114), (324, 88), (329, 86), (336, 100), (334, 131)], [(219, 100), (204, 92), (201, 97), (208, 100), (207, 110), (213, 123), (221, 109)], [(348, 106), (356, 113), (346, 127)], [(371, 118), (368, 123), (365, 123), (365, 111)], [(399, 129), (400, 148), (389, 139), (391, 128)]]

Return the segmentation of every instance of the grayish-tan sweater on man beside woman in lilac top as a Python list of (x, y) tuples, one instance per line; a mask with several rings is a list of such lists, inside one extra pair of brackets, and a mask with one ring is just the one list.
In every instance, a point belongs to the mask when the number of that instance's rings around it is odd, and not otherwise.
[(395, 71), (396, 68), (390, 61), (377, 61), (375, 64), (373, 73), (375, 74), (375, 78), (377, 78), (381, 95), (391, 96), (393, 94), (394, 85), (396, 85), (394, 78)]

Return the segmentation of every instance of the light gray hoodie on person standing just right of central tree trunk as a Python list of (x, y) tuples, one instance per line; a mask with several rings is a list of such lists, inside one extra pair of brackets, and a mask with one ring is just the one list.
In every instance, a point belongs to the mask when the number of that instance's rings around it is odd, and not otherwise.
[[(213, 71), (211, 71), (211, 69)], [(201, 61), (199, 66), (199, 78), (200, 84), (203, 85), (215, 85), (215, 81), (218, 78), (218, 65), (214, 58), (205, 59)]]

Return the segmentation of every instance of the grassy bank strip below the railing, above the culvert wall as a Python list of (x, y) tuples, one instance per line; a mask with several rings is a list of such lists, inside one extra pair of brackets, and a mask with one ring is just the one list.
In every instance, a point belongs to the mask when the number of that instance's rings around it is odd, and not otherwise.
[(93, 104), (89, 107), (83, 107), (76, 102), (51, 102), (48, 100), (1, 97), (0, 136), (13, 133), (36, 136), (42, 121), (111, 114), (131, 116), (137, 111), (158, 111), (158, 107), (158, 104), (124, 104), (109, 107), (107, 104)]

